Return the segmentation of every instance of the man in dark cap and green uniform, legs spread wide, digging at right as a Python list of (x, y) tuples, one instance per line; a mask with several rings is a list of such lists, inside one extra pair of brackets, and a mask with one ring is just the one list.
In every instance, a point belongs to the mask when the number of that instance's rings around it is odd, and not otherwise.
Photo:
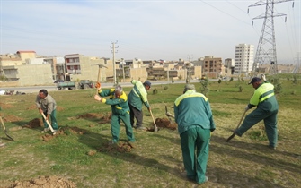
[(266, 81), (264, 74), (261, 74), (261, 78), (252, 78), (249, 84), (252, 84), (255, 91), (249, 104), (245, 107), (245, 111), (252, 107), (257, 108), (245, 116), (243, 124), (235, 130), (235, 134), (242, 136), (254, 124), (263, 120), (265, 132), (269, 139), (269, 147), (275, 150), (278, 141), (277, 114), (279, 106), (275, 97), (274, 86)]

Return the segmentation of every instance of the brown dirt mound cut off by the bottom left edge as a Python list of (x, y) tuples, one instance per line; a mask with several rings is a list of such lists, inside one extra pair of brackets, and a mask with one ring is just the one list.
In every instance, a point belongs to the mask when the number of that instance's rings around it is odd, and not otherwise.
[(14, 181), (4, 188), (76, 188), (76, 184), (71, 180), (57, 176), (40, 176), (36, 179), (26, 181)]

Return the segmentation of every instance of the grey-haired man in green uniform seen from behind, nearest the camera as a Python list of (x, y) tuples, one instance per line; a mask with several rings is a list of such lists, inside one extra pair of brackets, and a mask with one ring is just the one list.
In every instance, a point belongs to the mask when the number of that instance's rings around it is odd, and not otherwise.
[(211, 107), (193, 84), (186, 84), (183, 94), (174, 101), (174, 119), (181, 137), (181, 152), (188, 179), (202, 184), (206, 176), (209, 141), (216, 129)]

